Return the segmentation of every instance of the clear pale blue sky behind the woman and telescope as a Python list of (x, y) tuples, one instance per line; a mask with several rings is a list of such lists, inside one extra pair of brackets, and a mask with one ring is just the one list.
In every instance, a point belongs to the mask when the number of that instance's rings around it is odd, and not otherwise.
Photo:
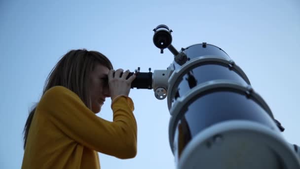
[[(207, 42), (221, 47), (243, 69), (286, 130), (300, 145), (299, 0), (0, 0), (0, 169), (20, 169), (28, 110), (59, 58), (86, 48), (107, 55), (115, 69), (165, 70), (153, 29), (173, 30), (178, 50)], [(168, 139), (167, 99), (132, 89), (138, 153), (120, 160), (100, 154), (102, 169), (175, 169)], [(100, 117), (112, 120), (110, 99)]]

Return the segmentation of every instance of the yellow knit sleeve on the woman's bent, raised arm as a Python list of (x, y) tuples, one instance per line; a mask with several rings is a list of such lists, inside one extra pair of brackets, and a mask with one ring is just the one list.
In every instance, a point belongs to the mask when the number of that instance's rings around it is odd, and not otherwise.
[(73, 91), (55, 86), (42, 96), (41, 110), (66, 136), (90, 149), (121, 159), (137, 153), (137, 124), (129, 97), (112, 104), (113, 122), (96, 116)]

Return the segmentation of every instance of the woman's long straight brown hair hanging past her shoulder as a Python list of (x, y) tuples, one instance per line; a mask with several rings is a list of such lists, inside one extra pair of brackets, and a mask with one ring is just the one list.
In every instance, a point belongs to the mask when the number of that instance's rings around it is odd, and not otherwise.
[[(44, 95), (49, 88), (61, 85), (75, 92), (86, 107), (91, 109), (91, 100), (88, 92), (89, 75), (94, 70), (96, 64), (101, 64), (112, 69), (111, 61), (98, 51), (87, 51), (86, 49), (69, 51), (62, 56), (51, 70), (44, 84), (42, 95)], [(24, 127), (24, 149), (37, 105), (38, 104), (29, 112)]]

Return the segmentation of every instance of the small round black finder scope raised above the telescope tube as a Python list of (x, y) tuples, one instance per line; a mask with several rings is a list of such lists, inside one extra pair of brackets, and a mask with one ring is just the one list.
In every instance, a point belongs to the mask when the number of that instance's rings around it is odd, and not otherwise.
[(154, 45), (160, 49), (169, 47), (169, 45), (172, 43), (172, 30), (170, 30), (166, 25), (158, 25), (155, 29), (153, 29), (153, 31)]

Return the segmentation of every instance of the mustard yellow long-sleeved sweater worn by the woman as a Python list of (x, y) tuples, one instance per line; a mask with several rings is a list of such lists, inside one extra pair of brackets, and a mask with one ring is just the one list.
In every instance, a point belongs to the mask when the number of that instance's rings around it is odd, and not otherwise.
[(50, 88), (38, 103), (22, 169), (100, 169), (97, 152), (120, 159), (137, 153), (133, 102), (113, 100), (113, 122), (96, 116), (73, 91)]

